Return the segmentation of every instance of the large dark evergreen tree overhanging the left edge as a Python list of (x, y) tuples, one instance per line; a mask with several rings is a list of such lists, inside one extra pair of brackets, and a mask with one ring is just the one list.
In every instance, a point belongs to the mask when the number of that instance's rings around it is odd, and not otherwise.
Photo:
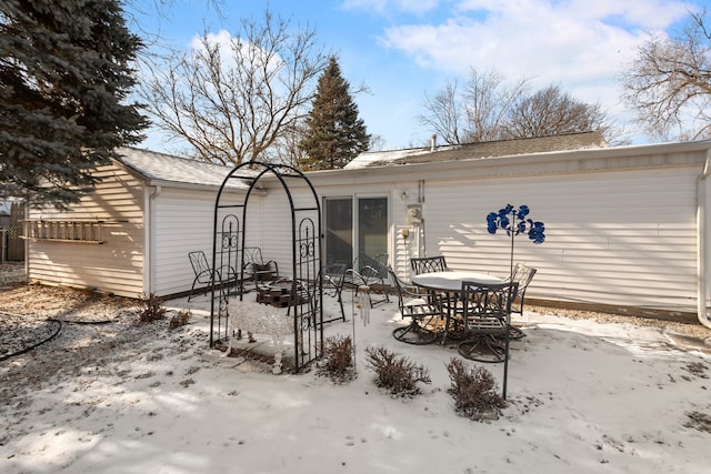
[(147, 125), (122, 104), (142, 47), (118, 0), (3, 0), (0, 6), (0, 196), (62, 208), (91, 171)]

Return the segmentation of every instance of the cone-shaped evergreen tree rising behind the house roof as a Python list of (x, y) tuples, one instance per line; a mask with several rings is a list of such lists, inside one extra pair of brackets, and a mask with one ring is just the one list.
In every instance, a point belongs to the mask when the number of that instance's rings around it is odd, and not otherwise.
[(343, 168), (360, 152), (368, 150), (370, 135), (358, 118), (358, 105), (351, 99), (349, 84), (331, 58), (319, 78), (313, 105), (307, 117), (307, 132), (300, 147), (307, 158), (302, 170)]

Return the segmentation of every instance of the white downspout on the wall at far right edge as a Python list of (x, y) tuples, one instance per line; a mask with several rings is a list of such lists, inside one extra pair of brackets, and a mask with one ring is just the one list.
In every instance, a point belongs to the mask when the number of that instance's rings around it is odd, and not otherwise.
[(711, 149), (707, 150), (707, 161), (703, 165), (703, 172), (697, 180), (697, 317), (701, 324), (709, 329), (711, 329), (711, 321), (709, 321), (709, 316), (707, 314), (707, 282), (709, 279), (707, 268), (707, 178), (709, 178), (709, 174), (711, 173), (710, 161)]

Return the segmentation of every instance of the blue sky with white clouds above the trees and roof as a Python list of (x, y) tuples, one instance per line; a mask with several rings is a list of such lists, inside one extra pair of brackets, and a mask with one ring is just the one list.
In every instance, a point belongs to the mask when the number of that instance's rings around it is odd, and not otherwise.
[[(139, 21), (188, 50), (206, 29), (234, 33), (240, 19), (259, 18), (267, 6), (317, 30), (343, 77), (369, 89), (354, 97), (369, 133), (395, 149), (429, 141), (431, 131), (418, 121), (424, 94), (465, 81), (471, 68), (529, 78), (534, 89), (560, 84), (628, 124), (618, 81), (625, 61), (649, 32), (673, 31), (689, 10), (711, 9), (711, 0), (223, 0), (221, 16), (210, 0), (174, 0), (164, 17)], [(633, 127), (633, 141), (643, 141)], [(176, 151), (154, 132), (142, 147)]]

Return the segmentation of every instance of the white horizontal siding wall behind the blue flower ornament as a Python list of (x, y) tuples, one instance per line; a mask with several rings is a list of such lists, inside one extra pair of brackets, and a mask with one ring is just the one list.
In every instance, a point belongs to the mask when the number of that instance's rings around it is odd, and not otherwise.
[(539, 270), (531, 297), (680, 309), (695, 305), (695, 181), (671, 168), (427, 183), (428, 254), (505, 276), (510, 239), (487, 231), (505, 204), (531, 209), (545, 242), (514, 239), (514, 262)]

